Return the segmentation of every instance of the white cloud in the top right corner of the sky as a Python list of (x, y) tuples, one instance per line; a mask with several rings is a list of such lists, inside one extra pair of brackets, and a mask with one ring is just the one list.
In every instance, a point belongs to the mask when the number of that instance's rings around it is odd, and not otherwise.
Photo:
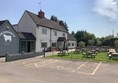
[(110, 20), (118, 20), (118, 1), (96, 0), (94, 11)]

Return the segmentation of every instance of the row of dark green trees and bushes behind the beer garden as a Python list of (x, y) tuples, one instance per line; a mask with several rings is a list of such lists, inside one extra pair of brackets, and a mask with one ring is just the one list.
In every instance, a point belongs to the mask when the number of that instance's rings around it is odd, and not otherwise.
[(106, 37), (96, 38), (94, 34), (88, 33), (87, 31), (72, 31), (77, 40), (78, 46), (81, 44), (80, 42), (85, 42), (86, 46), (110, 46), (110, 47), (118, 47), (118, 38), (113, 37), (112, 35), (108, 35)]

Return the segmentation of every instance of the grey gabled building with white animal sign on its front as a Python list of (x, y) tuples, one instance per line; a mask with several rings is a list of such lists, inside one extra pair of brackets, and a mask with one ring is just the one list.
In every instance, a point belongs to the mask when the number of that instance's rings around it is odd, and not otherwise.
[(19, 36), (8, 20), (0, 21), (0, 56), (19, 53)]

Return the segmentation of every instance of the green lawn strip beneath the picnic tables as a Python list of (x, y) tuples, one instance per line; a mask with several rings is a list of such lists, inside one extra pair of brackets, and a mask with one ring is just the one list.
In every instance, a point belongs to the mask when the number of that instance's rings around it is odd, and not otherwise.
[(84, 58), (82, 53), (70, 53), (69, 55), (62, 55), (62, 56), (52, 55), (52, 56), (48, 56), (48, 57), (49, 58), (58, 58), (58, 59), (68, 59), (68, 60), (118, 63), (118, 59), (117, 60), (109, 60), (109, 57), (107, 56), (107, 52), (97, 53), (95, 58)]

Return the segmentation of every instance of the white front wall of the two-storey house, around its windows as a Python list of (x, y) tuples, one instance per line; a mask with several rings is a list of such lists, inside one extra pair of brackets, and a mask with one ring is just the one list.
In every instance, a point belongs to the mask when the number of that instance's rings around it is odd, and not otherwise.
[[(42, 28), (47, 29), (47, 34), (42, 34)], [(53, 31), (57, 31), (57, 36), (54, 35)], [(44, 48), (41, 48), (41, 42), (47, 42), (47, 47), (51, 47), (52, 43), (57, 43), (58, 37), (63, 37), (63, 33), (65, 33), (65, 38), (67, 39), (67, 33), (49, 29), (46, 27), (39, 26), (36, 28), (36, 52), (42, 51)]]

